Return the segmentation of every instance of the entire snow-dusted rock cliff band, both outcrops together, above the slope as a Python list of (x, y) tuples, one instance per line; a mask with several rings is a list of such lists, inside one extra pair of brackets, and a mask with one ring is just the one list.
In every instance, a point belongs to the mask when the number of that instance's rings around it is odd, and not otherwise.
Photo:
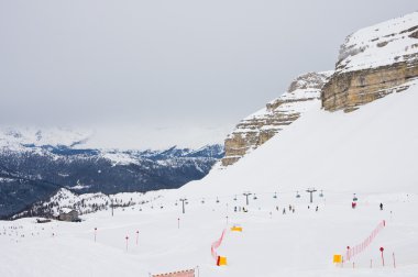
[(297, 120), (316, 101), (353, 111), (418, 78), (418, 12), (362, 29), (340, 48), (336, 70), (298, 77), (282, 97), (242, 120), (227, 137), (222, 166), (239, 160)]

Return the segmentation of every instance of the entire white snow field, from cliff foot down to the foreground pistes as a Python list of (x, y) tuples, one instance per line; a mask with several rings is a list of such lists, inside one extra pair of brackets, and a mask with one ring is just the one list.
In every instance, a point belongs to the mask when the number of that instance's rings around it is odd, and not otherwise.
[[(79, 223), (0, 221), (0, 276), (189, 268), (199, 276), (418, 276), (418, 86), (409, 85), (348, 114), (314, 107), (235, 165), (177, 190), (146, 193), (150, 202), (118, 208), (114, 217), (107, 210)], [(311, 187), (314, 203), (306, 192)], [(249, 206), (244, 191), (253, 193)], [(179, 198), (188, 199), (185, 214)], [(383, 220), (386, 226), (362, 253), (342, 266), (332, 263)], [(228, 265), (216, 266), (211, 244), (233, 224), (243, 232), (227, 231), (217, 253)]]

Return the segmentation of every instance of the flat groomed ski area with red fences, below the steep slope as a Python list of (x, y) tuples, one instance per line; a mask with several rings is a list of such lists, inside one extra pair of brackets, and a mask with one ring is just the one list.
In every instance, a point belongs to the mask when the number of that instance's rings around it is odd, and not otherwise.
[[(114, 217), (110, 210), (82, 215), (80, 223), (0, 222), (0, 275), (148, 276), (189, 268), (198, 268), (200, 276), (418, 275), (417, 195), (359, 193), (356, 209), (351, 208), (351, 193), (324, 191), (312, 204), (305, 192), (299, 199), (293, 193), (276, 199), (260, 193), (256, 200), (250, 198), (249, 206), (242, 195), (233, 198), (223, 196), (219, 202), (206, 198), (205, 203), (190, 198), (185, 214), (179, 202), (162, 199), (118, 208)], [(384, 202), (383, 211), (378, 201)], [(234, 212), (234, 207), (249, 211)], [(363, 242), (383, 219), (386, 226), (363, 253), (343, 267), (332, 264), (334, 254), (344, 255), (346, 245)], [(243, 231), (231, 232), (234, 224)], [(217, 253), (227, 257), (228, 265), (218, 267), (210, 246), (224, 229)]]

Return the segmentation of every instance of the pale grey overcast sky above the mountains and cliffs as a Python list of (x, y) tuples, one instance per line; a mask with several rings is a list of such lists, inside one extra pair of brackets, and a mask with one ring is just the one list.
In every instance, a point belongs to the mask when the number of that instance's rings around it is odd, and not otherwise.
[(297, 75), (333, 69), (350, 33), (416, 10), (415, 0), (0, 0), (0, 124), (231, 130)]

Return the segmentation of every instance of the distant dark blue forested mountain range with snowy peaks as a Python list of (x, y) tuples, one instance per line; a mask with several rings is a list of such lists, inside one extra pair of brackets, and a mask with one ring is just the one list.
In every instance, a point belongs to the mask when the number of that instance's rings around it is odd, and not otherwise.
[(145, 192), (205, 177), (223, 157), (221, 145), (163, 151), (82, 147), (70, 130), (0, 131), (0, 217), (9, 218), (61, 188), (79, 193)]

